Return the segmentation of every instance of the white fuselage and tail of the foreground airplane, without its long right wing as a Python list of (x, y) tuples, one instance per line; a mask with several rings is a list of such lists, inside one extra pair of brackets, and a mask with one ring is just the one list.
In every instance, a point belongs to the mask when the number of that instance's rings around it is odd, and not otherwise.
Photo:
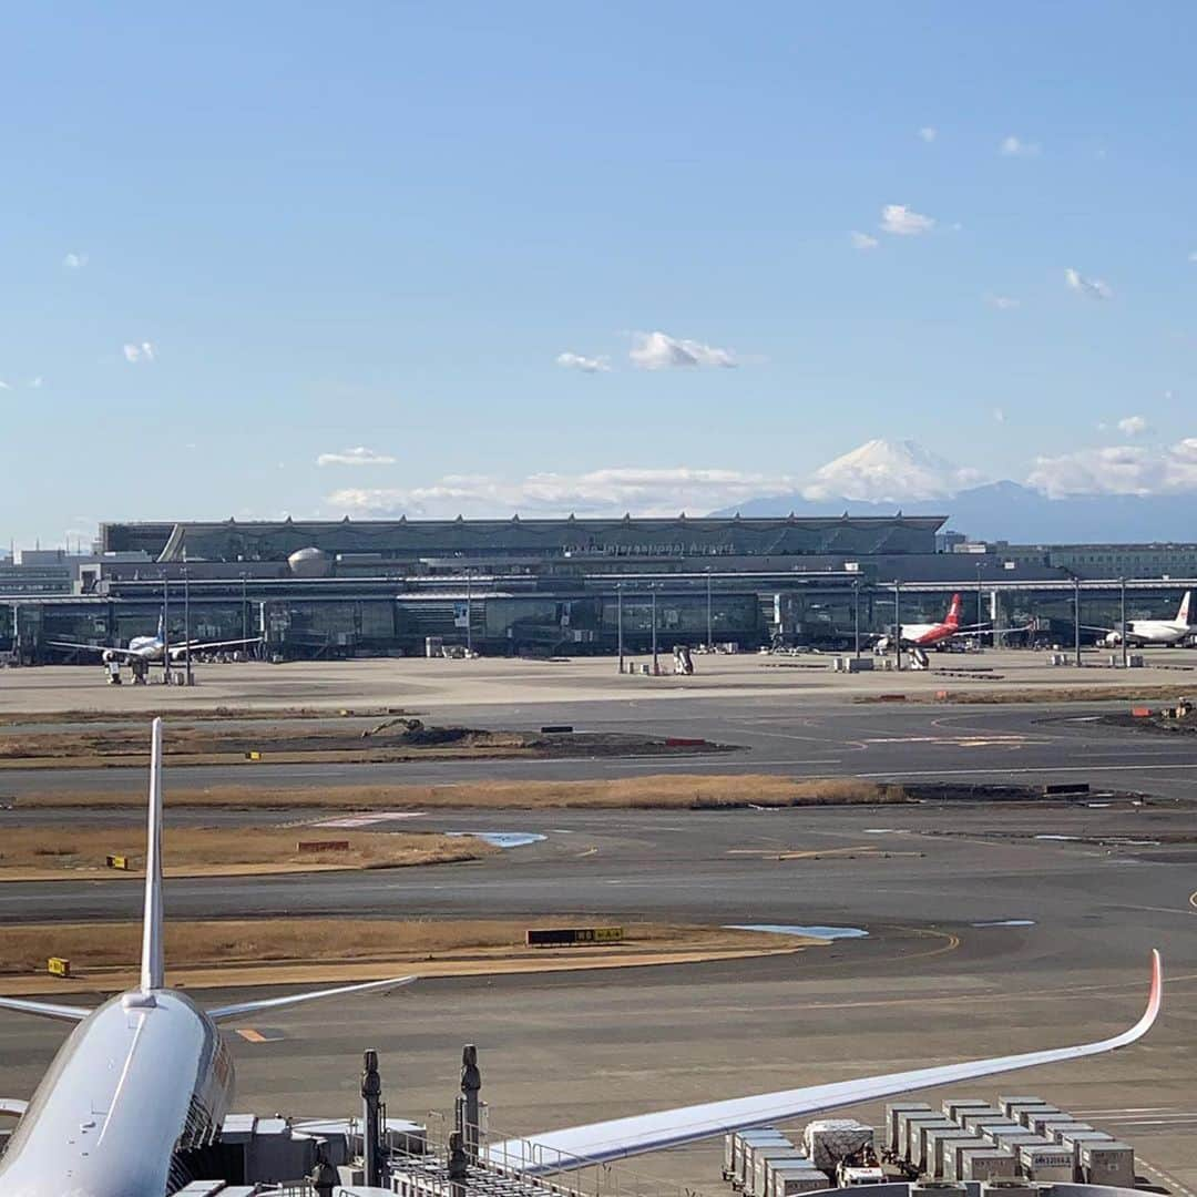
[(164, 1197), (186, 1183), (177, 1153), (211, 1143), (233, 1093), (217, 1023), (414, 977), (200, 1009), (168, 989), (162, 901), (162, 721), (153, 721), (141, 984), (96, 1010), (0, 998), (0, 1009), (78, 1023), (29, 1102), (0, 1099), (20, 1122), (0, 1157), (4, 1197)]

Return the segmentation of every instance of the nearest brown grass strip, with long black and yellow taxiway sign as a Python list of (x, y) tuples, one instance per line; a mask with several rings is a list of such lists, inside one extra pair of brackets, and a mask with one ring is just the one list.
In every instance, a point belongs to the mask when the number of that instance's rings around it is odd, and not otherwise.
[[(524, 947), (529, 926), (618, 925), (618, 919), (530, 918), (445, 919), (245, 919), (219, 923), (168, 923), (166, 959), (171, 968), (259, 962), (354, 964), (418, 962), (543, 955)], [(563, 948), (571, 955), (601, 950), (633, 954), (654, 950), (785, 949), (821, 941), (802, 936), (734, 931), (674, 924), (624, 924), (622, 944)], [(55, 923), (0, 928), (0, 974), (44, 973), (48, 956), (86, 970), (132, 967), (141, 950), (140, 923)]]

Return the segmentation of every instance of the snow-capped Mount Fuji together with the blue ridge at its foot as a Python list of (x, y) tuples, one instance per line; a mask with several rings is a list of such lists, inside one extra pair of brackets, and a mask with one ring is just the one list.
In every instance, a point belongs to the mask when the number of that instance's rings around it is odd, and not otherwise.
[[(979, 484), (979, 485), (978, 485)], [(1086, 494), (1049, 498), (1009, 480), (944, 461), (913, 440), (868, 440), (820, 467), (788, 494), (751, 499), (716, 516), (947, 516), (976, 540), (1014, 543), (1197, 540), (1193, 494)]]

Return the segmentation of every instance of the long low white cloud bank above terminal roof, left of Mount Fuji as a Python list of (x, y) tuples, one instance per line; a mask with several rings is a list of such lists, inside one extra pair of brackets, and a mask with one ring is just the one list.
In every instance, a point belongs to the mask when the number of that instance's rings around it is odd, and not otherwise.
[(358, 517), (420, 516), (426, 518), (510, 518), (529, 516), (675, 516), (703, 514), (760, 494), (792, 488), (785, 476), (734, 469), (679, 466), (660, 469), (596, 469), (584, 474), (531, 474), (522, 479), (450, 474), (430, 486), (411, 488), (354, 487), (335, 491), (326, 502), (338, 512)]

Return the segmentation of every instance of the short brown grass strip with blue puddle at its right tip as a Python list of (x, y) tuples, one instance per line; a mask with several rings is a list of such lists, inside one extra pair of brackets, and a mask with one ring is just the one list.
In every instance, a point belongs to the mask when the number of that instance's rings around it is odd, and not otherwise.
[[(348, 840), (345, 850), (299, 852), (299, 840)], [(413, 832), (346, 832), (308, 827), (174, 827), (163, 837), (168, 868), (195, 865), (311, 865), (347, 869), (399, 868), (475, 861), (499, 849), (466, 836)], [(104, 869), (104, 857), (127, 856), (134, 868), (145, 857), (139, 827), (6, 826), (0, 839), (0, 880), (5, 873), (29, 869)]]

